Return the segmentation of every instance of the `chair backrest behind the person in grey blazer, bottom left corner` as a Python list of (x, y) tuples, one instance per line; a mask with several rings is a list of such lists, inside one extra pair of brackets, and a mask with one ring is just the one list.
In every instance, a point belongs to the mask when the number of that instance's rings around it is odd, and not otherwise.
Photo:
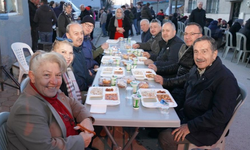
[(6, 134), (7, 120), (9, 117), (9, 112), (0, 113), (0, 150), (8, 150), (8, 138)]

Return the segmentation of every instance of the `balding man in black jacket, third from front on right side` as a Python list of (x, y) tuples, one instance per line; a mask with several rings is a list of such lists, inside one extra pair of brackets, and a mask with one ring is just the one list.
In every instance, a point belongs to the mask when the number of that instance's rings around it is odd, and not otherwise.
[(145, 65), (154, 63), (158, 66), (165, 66), (177, 63), (178, 52), (184, 42), (176, 36), (175, 25), (172, 22), (163, 24), (161, 34), (163, 40), (159, 42), (159, 54), (144, 52), (143, 56), (148, 58), (144, 62)]

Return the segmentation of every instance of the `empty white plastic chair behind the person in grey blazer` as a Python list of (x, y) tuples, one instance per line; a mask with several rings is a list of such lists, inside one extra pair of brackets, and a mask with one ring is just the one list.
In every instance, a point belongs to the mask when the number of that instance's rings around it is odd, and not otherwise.
[[(21, 83), (22, 77), (24, 74), (28, 74), (29, 72), (29, 65), (26, 62), (25, 55), (23, 53), (23, 49), (27, 48), (30, 52), (30, 55), (33, 55), (33, 51), (29, 45), (21, 42), (15, 42), (11, 44), (12, 51), (14, 52), (16, 59), (19, 63), (19, 77), (18, 82)], [(19, 91), (17, 92), (19, 94)]]

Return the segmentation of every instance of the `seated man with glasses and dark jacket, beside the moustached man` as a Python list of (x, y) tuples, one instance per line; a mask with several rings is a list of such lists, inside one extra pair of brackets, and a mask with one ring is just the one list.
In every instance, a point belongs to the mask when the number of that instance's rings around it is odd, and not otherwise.
[[(156, 66), (154, 64), (148, 66), (159, 74), (155, 76), (155, 82), (159, 82), (163, 88), (168, 89), (175, 99), (177, 99), (178, 96), (182, 96), (180, 93), (183, 93), (189, 70), (194, 65), (192, 45), (193, 42), (200, 37), (202, 37), (201, 26), (194, 22), (187, 24), (184, 32), (184, 41), (186, 44), (183, 44), (179, 50), (178, 62), (167, 66)], [(163, 78), (160, 75), (173, 75), (174, 77)]]

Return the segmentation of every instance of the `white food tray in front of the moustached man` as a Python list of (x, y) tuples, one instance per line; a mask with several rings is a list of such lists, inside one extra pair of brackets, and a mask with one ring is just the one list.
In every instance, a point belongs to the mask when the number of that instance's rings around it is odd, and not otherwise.
[(177, 106), (174, 98), (166, 89), (139, 89), (139, 93), (144, 107), (160, 108), (162, 105), (160, 103), (161, 100), (166, 101), (169, 104), (169, 107)]

